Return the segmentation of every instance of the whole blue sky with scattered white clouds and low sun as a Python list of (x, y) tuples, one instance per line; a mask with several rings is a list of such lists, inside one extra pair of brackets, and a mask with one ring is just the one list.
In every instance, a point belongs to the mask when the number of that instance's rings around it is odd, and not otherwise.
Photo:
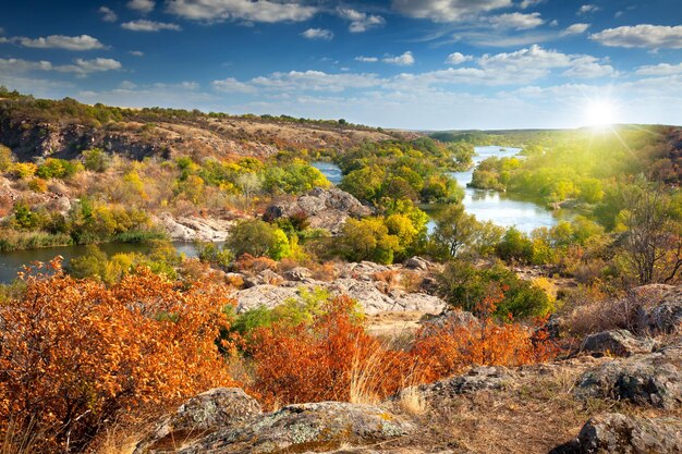
[(682, 124), (681, 0), (4, 0), (0, 85), (410, 130)]

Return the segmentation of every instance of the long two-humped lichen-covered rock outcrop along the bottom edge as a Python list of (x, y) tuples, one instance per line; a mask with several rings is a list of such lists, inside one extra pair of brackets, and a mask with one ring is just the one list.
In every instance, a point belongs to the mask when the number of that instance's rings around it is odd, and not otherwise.
[(328, 452), (381, 443), (414, 430), (404, 418), (377, 406), (321, 402), (260, 414), (243, 391), (214, 390), (163, 418), (135, 454)]

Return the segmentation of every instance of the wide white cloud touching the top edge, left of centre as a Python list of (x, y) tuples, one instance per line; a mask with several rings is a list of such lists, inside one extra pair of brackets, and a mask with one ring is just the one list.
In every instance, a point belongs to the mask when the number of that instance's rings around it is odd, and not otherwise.
[(270, 0), (169, 0), (167, 10), (178, 16), (204, 22), (242, 20), (253, 22), (301, 22), (318, 9), (292, 1)]

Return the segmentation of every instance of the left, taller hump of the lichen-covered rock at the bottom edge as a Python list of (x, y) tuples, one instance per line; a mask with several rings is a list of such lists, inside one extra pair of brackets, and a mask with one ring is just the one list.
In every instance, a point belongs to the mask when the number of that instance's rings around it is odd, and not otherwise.
[(162, 418), (156, 430), (137, 443), (134, 454), (174, 452), (180, 441), (243, 425), (260, 414), (258, 402), (241, 389), (217, 388), (192, 397)]

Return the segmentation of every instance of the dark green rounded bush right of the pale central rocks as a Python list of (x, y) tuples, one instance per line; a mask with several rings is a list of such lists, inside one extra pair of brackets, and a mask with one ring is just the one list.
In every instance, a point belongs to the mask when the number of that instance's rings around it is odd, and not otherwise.
[(492, 289), (504, 293), (504, 299), (496, 311), (499, 318), (510, 315), (513, 318), (545, 316), (552, 309), (545, 291), (499, 263), (478, 269), (468, 261), (451, 261), (438, 275), (438, 282), (439, 292), (448, 304), (463, 310), (475, 310)]

